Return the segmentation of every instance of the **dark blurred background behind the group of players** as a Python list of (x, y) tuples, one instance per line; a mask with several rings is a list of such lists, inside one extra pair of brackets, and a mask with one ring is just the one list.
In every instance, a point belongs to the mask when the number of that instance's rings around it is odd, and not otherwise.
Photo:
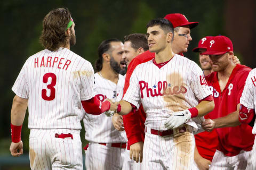
[[(19, 160), (5, 159), (5, 156), (10, 156), (10, 113), (14, 97), (11, 88), (27, 58), (43, 49), (38, 43), (42, 20), (50, 10), (58, 7), (68, 7), (76, 23), (76, 45), (71, 47), (71, 50), (90, 61), (92, 65), (97, 60), (97, 48), (102, 40), (114, 37), (123, 40), (123, 37), (130, 33), (146, 33), (149, 20), (164, 17), (169, 13), (182, 13), (189, 21), (199, 21), (199, 25), (191, 30), (193, 41), (185, 54), (186, 57), (197, 62), (198, 54), (191, 52), (191, 49), (197, 46), (199, 39), (204, 36), (225, 35), (233, 41), (234, 53), (241, 63), (256, 67), (255, 0), (2, 1), (0, 169), (17, 169), (15, 166), (4, 164), (9, 160)], [(27, 124), (26, 115), (21, 138), (25, 154), (29, 151)], [(84, 130), (81, 132), (81, 139), (84, 146)], [(24, 167), (27, 168), (29, 167)]]

